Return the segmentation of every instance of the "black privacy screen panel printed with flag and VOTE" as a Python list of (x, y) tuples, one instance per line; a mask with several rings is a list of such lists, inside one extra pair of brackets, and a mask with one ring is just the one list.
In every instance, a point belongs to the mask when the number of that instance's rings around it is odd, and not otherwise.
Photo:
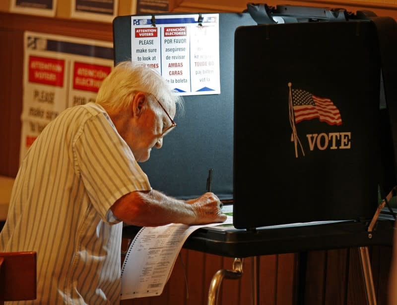
[(235, 44), (235, 227), (372, 218), (381, 179), (374, 25), (242, 26)]

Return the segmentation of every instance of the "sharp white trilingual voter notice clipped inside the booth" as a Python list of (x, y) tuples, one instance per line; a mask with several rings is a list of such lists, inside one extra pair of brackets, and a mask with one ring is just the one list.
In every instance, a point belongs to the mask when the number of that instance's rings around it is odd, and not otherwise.
[(131, 58), (180, 95), (220, 93), (219, 14), (131, 17)]

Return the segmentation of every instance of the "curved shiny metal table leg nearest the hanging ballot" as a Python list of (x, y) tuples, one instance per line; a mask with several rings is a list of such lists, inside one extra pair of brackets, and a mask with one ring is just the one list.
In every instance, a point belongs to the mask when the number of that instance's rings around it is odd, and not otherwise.
[(216, 271), (212, 277), (208, 291), (208, 305), (217, 305), (220, 285), (223, 278), (239, 279), (243, 275), (243, 258), (235, 258), (233, 270), (221, 269)]

